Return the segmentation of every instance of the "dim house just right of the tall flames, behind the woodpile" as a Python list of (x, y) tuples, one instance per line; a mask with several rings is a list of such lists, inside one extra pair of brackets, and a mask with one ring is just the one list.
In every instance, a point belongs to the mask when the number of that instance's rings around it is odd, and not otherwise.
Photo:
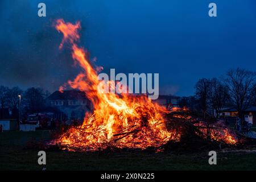
[(152, 101), (165, 107), (178, 107), (179, 99), (177, 96), (159, 95), (158, 99)]

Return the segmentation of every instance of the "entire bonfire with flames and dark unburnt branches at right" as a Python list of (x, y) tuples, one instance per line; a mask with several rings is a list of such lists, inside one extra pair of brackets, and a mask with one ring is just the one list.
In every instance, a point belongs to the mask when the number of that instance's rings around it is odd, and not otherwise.
[(94, 111), (86, 114), (82, 125), (70, 127), (49, 144), (69, 151), (98, 151), (109, 147), (145, 149), (177, 143), (192, 135), (218, 143), (237, 143), (234, 135), (220, 123), (209, 125), (185, 109), (169, 111), (144, 95), (102, 92), (105, 86), (111, 87), (114, 83), (98, 80), (97, 72), (102, 68), (94, 69), (88, 53), (77, 46), (80, 22), (72, 24), (59, 19), (55, 27), (64, 35), (60, 48), (65, 42), (71, 44), (72, 57), (84, 71), (75, 80), (68, 81), (68, 85), (85, 92)]

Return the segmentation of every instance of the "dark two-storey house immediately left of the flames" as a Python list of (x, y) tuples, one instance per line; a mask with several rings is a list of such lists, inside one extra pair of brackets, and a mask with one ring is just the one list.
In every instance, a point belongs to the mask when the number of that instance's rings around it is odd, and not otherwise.
[(92, 102), (80, 90), (64, 90), (53, 92), (46, 100), (48, 110), (60, 121), (84, 119), (86, 112), (93, 110)]

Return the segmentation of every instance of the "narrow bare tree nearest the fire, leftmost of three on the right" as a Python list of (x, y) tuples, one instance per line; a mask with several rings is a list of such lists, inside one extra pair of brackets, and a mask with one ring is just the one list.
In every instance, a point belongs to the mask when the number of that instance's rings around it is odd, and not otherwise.
[(203, 111), (204, 118), (208, 109), (208, 94), (210, 89), (210, 81), (207, 78), (201, 78), (196, 82), (196, 97), (200, 102), (200, 108)]

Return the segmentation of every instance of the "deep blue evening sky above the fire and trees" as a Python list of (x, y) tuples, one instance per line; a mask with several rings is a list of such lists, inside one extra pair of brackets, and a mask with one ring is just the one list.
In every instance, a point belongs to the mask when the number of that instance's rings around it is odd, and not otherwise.
[[(39, 2), (46, 18), (37, 15)], [(0, 85), (53, 91), (76, 76), (69, 49), (58, 49), (57, 18), (81, 21), (80, 45), (105, 72), (159, 73), (165, 94), (189, 96), (201, 77), (256, 68), (255, 0), (15, 0), (0, 2)]]

